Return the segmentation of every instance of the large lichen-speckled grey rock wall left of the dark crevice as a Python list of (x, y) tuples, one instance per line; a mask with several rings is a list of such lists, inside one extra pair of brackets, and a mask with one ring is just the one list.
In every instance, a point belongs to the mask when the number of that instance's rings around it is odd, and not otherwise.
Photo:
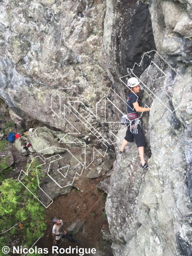
[(6, 0), (0, 11), (1, 98), (19, 116), (63, 130), (50, 109), (56, 89), (70, 87), (94, 105), (111, 85), (101, 61), (105, 4)]

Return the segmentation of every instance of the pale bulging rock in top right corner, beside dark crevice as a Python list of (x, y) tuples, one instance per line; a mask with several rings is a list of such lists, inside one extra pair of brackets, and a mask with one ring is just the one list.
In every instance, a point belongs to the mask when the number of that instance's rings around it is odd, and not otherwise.
[(157, 51), (173, 65), (192, 63), (191, 1), (152, 0), (149, 3)]

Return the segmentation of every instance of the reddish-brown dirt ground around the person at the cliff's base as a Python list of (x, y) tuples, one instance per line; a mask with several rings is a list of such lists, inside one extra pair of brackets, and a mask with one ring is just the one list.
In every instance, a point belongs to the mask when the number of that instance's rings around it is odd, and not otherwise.
[[(96, 179), (84, 178), (83, 183), (81, 181), (83, 192), (73, 188), (69, 194), (58, 196), (54, 200), (46, 210), (48, 229), (44, 237), (38, 241), (37, 246), (43, 245), (43, 248), (48, 248), (48, 251), (51, 252), (53, 246), (52, 218), (62, 219), (65, 228), (76, 220), (85, 220), (80, 231), (74, 235), (75, 239), (82, 241), (81, 244), (78, 244), (78, 247), (96, 248), (96, 250), (102, 252), (102, 255), (112, 256), (111, 244), (102, 239), (101, 233), (103, 225), (105, 228), (108, 226), (105, 214), (106, 194), (102, 195), (103, 192), (96, 189), (96, 185), (103, 179), (103, 177)], [(91, 209), (91, 207), (93, 208)], [(62, 239), (61, 243), (60, 248), (68, 248), (69, 246), (76, 248), (77, 246), (77, 244), (72, 244), (66, 239)], [(67, 255), (78, 256), (79, 254)]]

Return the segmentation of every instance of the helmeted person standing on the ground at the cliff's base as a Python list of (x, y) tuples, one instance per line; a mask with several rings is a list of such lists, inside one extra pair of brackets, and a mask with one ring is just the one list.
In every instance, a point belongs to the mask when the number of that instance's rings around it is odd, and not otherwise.
[(58, 218), (53, 218), (52, 219), (53, 222), (53, 231), (52, 231), (52, 235), (53, 235), (53, 240), (54, 240), (54, 246), (57, 246), (60, 244), (60, 239), (61, 238), (66, 238), (67, 240), (69, 240), (71, 243), (76, 243), (76, 244), (80, 244), (81, 241), (79, 240), (75, 240), (71, 237), (71, 235), (69, 235), (63, 227), (63, 221), (62, 219), (58, 219)]

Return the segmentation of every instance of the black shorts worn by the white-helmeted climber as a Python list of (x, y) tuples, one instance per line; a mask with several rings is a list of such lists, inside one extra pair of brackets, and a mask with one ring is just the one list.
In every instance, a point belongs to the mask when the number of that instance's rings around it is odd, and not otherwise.
[(137, 125), (137, 130), (138, 134), (132, 134), (132, 132), (130, 132), (130, 126), (127, 127), (127, 132), (124, 139), (128, 142), (133, 142), (135, 139), (137, 147), (145, 146), (146, 141), (140, 124)]

